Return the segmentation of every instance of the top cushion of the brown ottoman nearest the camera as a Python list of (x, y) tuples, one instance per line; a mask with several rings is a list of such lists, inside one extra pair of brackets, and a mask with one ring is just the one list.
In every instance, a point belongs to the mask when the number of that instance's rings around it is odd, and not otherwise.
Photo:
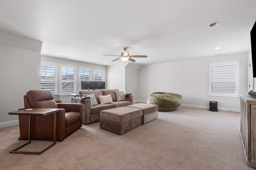
[(141, 116), (142, 109), (132, 107), (117, 107), (114, 109), (102, 110), (100, 112), (100, 118), (116, 123), (124, 123)]

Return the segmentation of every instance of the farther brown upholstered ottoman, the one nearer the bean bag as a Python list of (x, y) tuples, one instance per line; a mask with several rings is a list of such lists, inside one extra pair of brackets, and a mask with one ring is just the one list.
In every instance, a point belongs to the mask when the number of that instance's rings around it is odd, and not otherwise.
[(155, 104), (133, 104), (126, 107), (133, 107), (137, 109), (142, 109), (142, 124), (148, 123), (158, 117), (158, 106)]

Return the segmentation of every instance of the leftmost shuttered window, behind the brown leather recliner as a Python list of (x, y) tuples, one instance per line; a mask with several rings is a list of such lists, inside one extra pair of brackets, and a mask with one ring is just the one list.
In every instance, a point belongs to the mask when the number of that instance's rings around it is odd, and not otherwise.
[(49, 89), (52, 93), (56, 93), (56, 66), (41, 65), (40, 66), (41, 89)]

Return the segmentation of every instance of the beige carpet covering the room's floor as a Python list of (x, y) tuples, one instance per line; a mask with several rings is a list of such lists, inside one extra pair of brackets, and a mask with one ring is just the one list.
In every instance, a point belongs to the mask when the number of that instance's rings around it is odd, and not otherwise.
[(235, 112), (180, 107), (121, 136), (92, 123), (41, 155), (9, 154), (18, 137), (18, 126), (0, 129), (0, 169), (250, 169)]

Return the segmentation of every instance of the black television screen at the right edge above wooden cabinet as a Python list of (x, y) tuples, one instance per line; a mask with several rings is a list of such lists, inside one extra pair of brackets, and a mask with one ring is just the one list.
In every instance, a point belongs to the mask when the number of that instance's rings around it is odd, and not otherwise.
[(253, 78), (256, 78), (256, 22), (251, 31), (251, 46), (252, 46), (252, 72)]

